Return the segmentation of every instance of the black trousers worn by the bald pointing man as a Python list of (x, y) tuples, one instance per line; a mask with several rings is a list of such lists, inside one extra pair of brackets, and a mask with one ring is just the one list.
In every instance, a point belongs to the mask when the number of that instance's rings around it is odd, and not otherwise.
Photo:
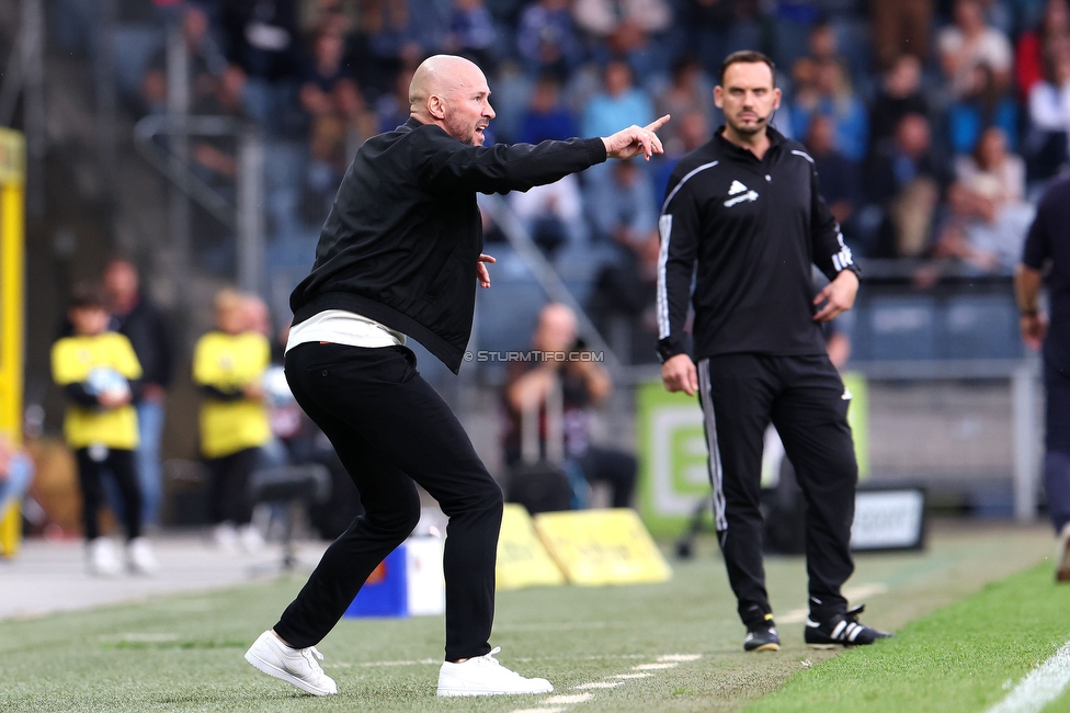
[(405, 347), (300, 344), (286, 354), (297, 403), (330, 439), (365, 513), (323, 554), (275, 624), (311, 646), (338, 623), (372, 570), (416, 528), (419, 483), (448, 516), (446, 659), (490, 652), (501, 488)]

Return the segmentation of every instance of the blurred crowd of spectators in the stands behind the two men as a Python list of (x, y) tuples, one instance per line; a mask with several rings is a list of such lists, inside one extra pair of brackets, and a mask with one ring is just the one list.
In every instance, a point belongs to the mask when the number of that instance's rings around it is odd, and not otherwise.
[[(60, 46), (92, 4), (57, 0)], [(299, 147), (284, 170), (269, 162), (288, 185), (269, 201), (275, 241), (315, 234), (355, 148), (407, 118), (431, 54), (485, 69), (489, 140), (604, 136), (671, 113), (659, 160), (510, 196), (551, 260), (597, 256), (583, 297), (595, 316), (648, 318), (664, 184), (719, 126), (712, 89), (737, 49), (776, 61), (773, 124), (807, 145), (854, 253), (909, 260), (919, 280), (1010, 273), (1031, 199), (1068, 160), (1066, 0), (126, 0), (119, 21), (181, 26), (191, 113)], [(126, 98), (164, 112), (167, 53), (136, 36), (116, 45), (124, 71), (139, 68)], [(232, 145), (194, 140), (191, 160), (232, 190)], [(490, 224), (487, 239), (501, 239)]]

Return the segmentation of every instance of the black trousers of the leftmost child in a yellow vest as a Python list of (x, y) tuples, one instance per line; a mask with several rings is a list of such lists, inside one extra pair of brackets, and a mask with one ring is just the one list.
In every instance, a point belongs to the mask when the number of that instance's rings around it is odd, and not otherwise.
[(83, 448), (75, 451), (78, 463), (78, 485), (82, 491), (82, 524), (86, 539), (100, 536), (96, 521), (101, 506), (104, 505), (104, 473), (111, 473), (123, 499), (128, 540), (141, 534), (141, 489), (138, 486), (137, 469), (134, 465), (134, 451), (103, 446)]

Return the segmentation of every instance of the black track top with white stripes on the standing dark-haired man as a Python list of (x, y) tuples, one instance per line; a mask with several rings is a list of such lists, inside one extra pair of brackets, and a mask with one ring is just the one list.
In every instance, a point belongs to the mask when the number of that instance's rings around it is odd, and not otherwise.
[(684, 353), (697, 263), (695, 361), (824, 353), (810, 265), (830, 280), (858, 270), (821, 199), (813, 159), (771, 128), (759, 160), (721, 131), (669, 179), (659, 222), (658, 352), (663, 360)]

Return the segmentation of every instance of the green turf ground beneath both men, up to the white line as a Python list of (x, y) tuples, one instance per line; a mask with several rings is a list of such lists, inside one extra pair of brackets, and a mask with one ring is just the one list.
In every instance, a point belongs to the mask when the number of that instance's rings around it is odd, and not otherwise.
[[(779, 653), (744, 654), (709, 541), (662, 585), (501, 592), (492, 644), (506, 666), (549, 678), (548, 697), (436, 699), (437, 616), (343, 620), (319, 646), (339, 695), (303, 695), (241, 658), (301, 577), (9, 620), (0, 711), (980, 712), (1070, 640), (1070, 588), (1051, 584), (1050, 564), (976, 593), (1049, 544), (1047, 533), (951, 532), (924, 554), (858, 557), (849, 584), (869, 592), (865, 621), (899, 636), (838, 657), (807, 648), (797, 621), (779, 625)], [(777, 614), (797, 618), (802, 561), (771, 557), (767, 576)], [(617, 684), (578, 688), (588, 683)]]

